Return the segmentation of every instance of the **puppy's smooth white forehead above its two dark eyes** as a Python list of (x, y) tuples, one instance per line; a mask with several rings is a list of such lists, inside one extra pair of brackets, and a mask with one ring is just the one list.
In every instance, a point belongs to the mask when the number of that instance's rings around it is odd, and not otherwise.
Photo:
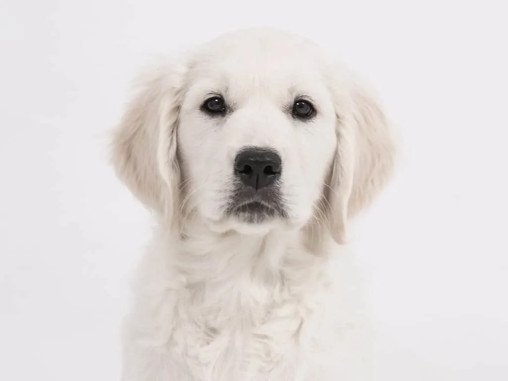
[(311, 42), (291, 35), (266, 33), (223, 37), (205, 45), (192, 68), (202, 87), (237, 96), (312, 91), (324, 84), (324, 59)]

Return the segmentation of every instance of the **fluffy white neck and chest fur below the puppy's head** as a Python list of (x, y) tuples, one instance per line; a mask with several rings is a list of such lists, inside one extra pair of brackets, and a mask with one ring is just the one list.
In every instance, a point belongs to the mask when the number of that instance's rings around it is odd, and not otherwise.
[(358, 317), (345, 302), (357, 295), (340, 256), (331, 266), (327, 250), (316, 255), (298, 234), (193, 231), (157, 236), (128, 322), (128, 347), (167, 364), (161, 379), (336, 379), (346, 370), (341, 352), (357, 345)]

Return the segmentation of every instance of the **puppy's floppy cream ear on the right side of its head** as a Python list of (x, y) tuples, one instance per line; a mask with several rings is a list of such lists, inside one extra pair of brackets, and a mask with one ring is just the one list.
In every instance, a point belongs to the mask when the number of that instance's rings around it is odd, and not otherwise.
[(365, 86), (356, 79), (334, 86), (337, 150), (329, 184), (329, 228), (333, 239), (343, 243), (347, 220), (367, 207), (389, 180), (396, 145), (389, 121)]

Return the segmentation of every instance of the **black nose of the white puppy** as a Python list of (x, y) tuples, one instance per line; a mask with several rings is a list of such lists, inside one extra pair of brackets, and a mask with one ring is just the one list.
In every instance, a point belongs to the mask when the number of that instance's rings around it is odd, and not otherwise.
[(244, 148), (235, 158), (235, 175), (255, 190), (270, 185), (280, 171), (280, 156), (269, 148)]

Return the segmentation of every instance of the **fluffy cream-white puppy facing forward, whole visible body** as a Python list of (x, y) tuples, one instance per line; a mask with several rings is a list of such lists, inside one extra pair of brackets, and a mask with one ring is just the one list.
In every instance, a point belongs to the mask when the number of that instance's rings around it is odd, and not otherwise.
[(157, 219), (123, 380), (358, 379), (344, 232), (394, 152), (372, 96), (301, 37), (239, 30), (151, 69), (114, 136)]

